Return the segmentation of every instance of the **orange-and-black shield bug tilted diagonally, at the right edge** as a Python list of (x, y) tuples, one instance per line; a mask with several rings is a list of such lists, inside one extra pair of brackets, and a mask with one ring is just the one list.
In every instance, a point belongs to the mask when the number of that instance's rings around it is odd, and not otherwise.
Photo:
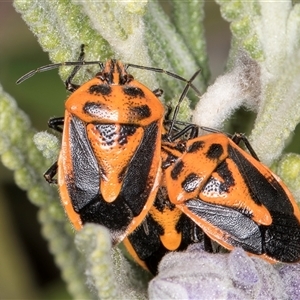
[[(252, 155), (238, 146), (241, 140)], [(296, 201), (243, 135), (163, 142), (162, 152), (170, 202), (208, 237), (269, 261), (300, 260)]]

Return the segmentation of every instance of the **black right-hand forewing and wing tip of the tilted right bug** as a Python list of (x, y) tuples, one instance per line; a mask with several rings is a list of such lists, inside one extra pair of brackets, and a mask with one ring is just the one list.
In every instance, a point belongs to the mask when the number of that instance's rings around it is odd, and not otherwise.
[(272, 174), (270, 177), (264, 176), (231, 146), (229, 146), (229, 155), (239, 166), (253, 199), (256, 203), (263, 204), (272, 216), (270, 226), (260, 226), (263, 252), (284, 262), (299, 260), (300, 222), (294, 214), (286, 192)]

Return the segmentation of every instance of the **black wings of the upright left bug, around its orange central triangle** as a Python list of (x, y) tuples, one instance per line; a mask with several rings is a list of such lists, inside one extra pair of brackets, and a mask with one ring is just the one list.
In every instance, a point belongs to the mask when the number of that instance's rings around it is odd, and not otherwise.
[[(100, 170), (86, 135), (85, 124), (75, 116), (70, 122), (72, 177), (67, 178), (67, 189), (74, 210), (83, 223), (106, 226), (117, 238), (125, 233), (132, 219), (142, 211), (155, 178), (148, 178), (157, 123), (145, 128), (145, 135), (124, 178), (122, 190), (115, 201), (108, 203), (100, 194)], [(117, 220), (117, 221), (116, 221)]]

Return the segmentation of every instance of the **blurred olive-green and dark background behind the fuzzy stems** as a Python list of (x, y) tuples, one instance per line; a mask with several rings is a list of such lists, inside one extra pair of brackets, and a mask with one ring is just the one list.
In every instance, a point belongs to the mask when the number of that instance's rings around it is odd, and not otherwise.
[[(230, 46), (229, 26), (221, 19), (214, 2), (206, 3), (205, 28), (213, 81), (224, 70)], [(48, 63), (47, 53), (41, 50), (36, 38), (14, 11), (12, 2), (1, 1), (1, 84), (30, 116), (38, 131), (48, 129), (50, 117), (63, 116), (66, 92), (57, 71), (39, 74), (21, 85), (15, 82), (26, 72)], [(245, 115), (252, 117), (242, 110), (235, 115), (233, 131), (244, 131), (240, 120)], [(300, 153), (297, 139), (288, 150)], [(12, 172), (1, 163), (0, 240), (0, 299), (70, 299), (41, 236), (37, 209), (27, 200), (26, 193), (14, 184)]]

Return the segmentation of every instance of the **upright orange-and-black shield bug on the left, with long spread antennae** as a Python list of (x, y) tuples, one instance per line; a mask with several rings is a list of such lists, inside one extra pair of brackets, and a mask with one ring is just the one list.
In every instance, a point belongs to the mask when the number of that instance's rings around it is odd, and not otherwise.
[[(81, 86), (74, 84), (72, 80), (79, 69), (92, 64), (100, 66), (95, 77)], [(62, 203), (75, 229), (86, 222), (102, 224), (110, 230), (113, 244), (117, 244), (145, 218), (161, 176), (161, 90), (152, 92), (127, 68), (143, 68), (186, 80), (162, 69), (123, 65), (116, 60), (105, 64), (84, 61), (82, 45), (78, 61), (40, 67), (17, 83), (61, 66), (74, 66), (65, 82), (72, 94), (65, 103), (65, 116), (49, 120), (50, 128), (62, 132), (62, 148), (58, 161), (44, 176), (49, 183), (58, 183)]]

